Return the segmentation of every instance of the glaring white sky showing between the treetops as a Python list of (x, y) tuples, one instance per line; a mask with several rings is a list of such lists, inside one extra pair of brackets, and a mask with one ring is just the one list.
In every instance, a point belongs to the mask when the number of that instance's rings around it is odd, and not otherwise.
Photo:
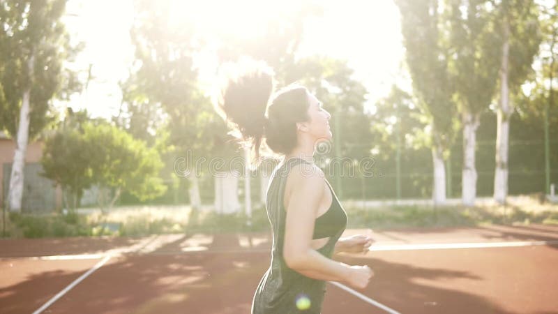
[[(180, 12), (186, 12), (188, 4), (185, 4), (186, 1), (175, 1), (183, 6), (176, 13), (177, 18), (181, 18)], [(261, 1), (243, 1), (262, 6)], [(195, 6), (203, 6), (198, 3), (204, 1), (194, 3)], [(346, 60), (354, 68), (355, 78), (367, 87), (367, 107), (373, 112), (373, 103), (386, 96), (393, 82), (407, 84), (400, 70), (405, 50), (402, 47), (398, 8), (392, 0), (324, 0), (319, 3), (324, 6), (324, 14), (306, 22), (299, 57), (320, 54)], [(214, 18), (218, 14), (214, 8), (203, 9), (212, 16), (211, 19), (199, 16), (200, 21), (219, 20)], [(221, 11), (239, 17), (246, 15), (246, 11), (231, 14), (230, 10), (232, 8)], [(134, 58), (129, 33), (133, 23), (133, 1), (69, 0), (64, 22), (75, 43), (81, 41), (85, 45), (70, 66), (80, 70), (82, 80), (86, 80), (91, 65), (92, 76), (82, 94), (76, 94), (69, 102), (59, 102), (56, 106), (59, 110), (66, 105), (74, 110), (86, 108), (92, 117), (116, 115), (121, 104), (119, 82), (128, 77)], [(250, 31), (241, 23), (235, 30)], [(206, 54), (199, 55), (196, 60), (202, 86), (209, 90), (216, 72), (215, 58)]]

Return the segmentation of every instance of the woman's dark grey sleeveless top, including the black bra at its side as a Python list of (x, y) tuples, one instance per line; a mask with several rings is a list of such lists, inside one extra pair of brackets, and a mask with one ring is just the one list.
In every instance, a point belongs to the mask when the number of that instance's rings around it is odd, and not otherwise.
[[(287, 176), (294, 165), (308, 163), (300, 158), (290, 158), (278, 165), (271, 174), (266, 195), (266, 211), (273, 232), (271, 265), (259, 282), (252, 300), (252, 314), (319, 314), (326, 292), (326, 282), (312, 279), (290, 269), (282, 257), (283, 239), (285, 237), (285, 216), (283, 196)], [(331, 258), (333, 248), (347, 226), (347, 214), (340, 206), (333, 189), (328, 184), (333, 201), (325, 214), (315, 221), (314, 239), (329, 237), (329, 241), (317, 252)], [(310, 301), (306, 306), (301, 298)], [(296, 306), (299, 301), (299, 307)]]

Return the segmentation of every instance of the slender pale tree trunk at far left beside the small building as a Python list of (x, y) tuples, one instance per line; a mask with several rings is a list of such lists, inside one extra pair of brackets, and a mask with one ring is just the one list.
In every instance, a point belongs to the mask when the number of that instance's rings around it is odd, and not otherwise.
[(31, 111), (31, 78), (33, 77), (33, 66), (35, 54), (27, 60), (27, 73), (29, 74), (29, 85), (23, 92), (22, 107), (20, 109), (20, 121), (17, 125), (17, 136), (15, 138), (15, 152), (13, 156), (12, 173), (10, 174), (10, 187), (8, 189), (8, 205), (10, 211), (22, 211), (23, 198), (23, 171), (25, 167), (25, 153), (29, 142), (29, 114)]

